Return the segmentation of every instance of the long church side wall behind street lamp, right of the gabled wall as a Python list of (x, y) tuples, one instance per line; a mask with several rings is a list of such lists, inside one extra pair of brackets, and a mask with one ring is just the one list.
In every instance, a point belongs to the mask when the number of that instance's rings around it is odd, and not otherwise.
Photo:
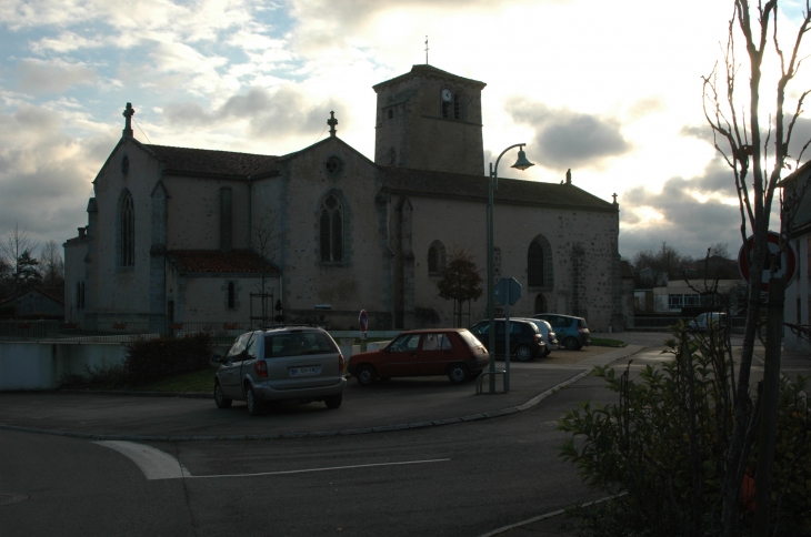
[[(487, 205), (484, 203), (410, 196), (413, 205), (414, 306), (440, 312), (452, 320), (452, 302), (439, 297), (439, 277), (428, 274), (428, 249), (441, 241), (450, 256), (454, 247), (473, 255), (487, 280)], [(532, 316), (534, 300), (544, 295), (549, 312), (587, 317), (595, 331), (608, 330), (613, 312), (613, 257), (617, 252), (615, 213), (562, 211), (521, 205), (495, 205), (494, 245), (501, 251), (500, 274), (523, 287), (522, 298), (510, 308), (514, 316)], [(528, 285), (527, 254), (542, 236), (551, 246), (552, 287)], [(549, 260), (545, 260), (549, 262)], [(467, 307), (463, 313), (467, 314)], [(471, 305), (474, 323), (487, 316), (487, 296)]]

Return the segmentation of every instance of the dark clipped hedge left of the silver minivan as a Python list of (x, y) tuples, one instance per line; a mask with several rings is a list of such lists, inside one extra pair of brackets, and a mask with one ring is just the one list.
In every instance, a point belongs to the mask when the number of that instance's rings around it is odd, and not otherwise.
[(124, 344), (124, 351), (126, 382), (137, 386), (210, 367), (211, 335), (201, 332), (178, 338), (141, 338)]

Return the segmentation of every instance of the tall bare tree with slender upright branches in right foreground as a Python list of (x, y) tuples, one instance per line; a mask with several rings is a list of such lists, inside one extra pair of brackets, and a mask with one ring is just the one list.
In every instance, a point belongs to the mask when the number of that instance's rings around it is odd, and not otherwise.
[[(782, 209), (779, 183), (783, 171), (791, 168), (787, 162), (791, 159), (788, 154), (789, 143), (797, 120), (802, 113), (803, 102), (811, 92), (811, 90), (804, 90), (797, 93), (799, 97), (794, 112), (790, 112), (787, 116), (784, 113), (787, 88), (802, 64), (803, 58), (800, 48), (811, 23), (809, 0), (805, 0), (803, 18), (788, 52), (780, 44), (778, 14), (778, 0), (767, 2), (758, 0), (754, 7), (750, 6), (749, 0), (733, 0), (733, 14), (729, 21), (727, 44), (723, 48), (722, 72), (719, 73), (717, 69), (713, 69), (708, 77), (703, 78), (704, 115), (712, 128), (715, 149), (732, 170), (738, 192), (741, 240), (745, 242), (747, 235), (750, 233), (754, 236), (749, 262), (750, 268), (755, 267), (755, 270), (750, 270), (753, 277), (748, 284), (743, 351), (737, 389), (733, 388), (735, 394), (733, 427), (725, 454), (721, 495), (723, 535), (729, 537), (737, 535), (740, 485), (745, 472), (752, 432), (757, 428), (759, 418), (764, 424), (770, 419), (773, 423), (772, 414), (777, 412), (775, 394), (767, 397), (771, 401), (773, 396), (773, 404), (758, 401), (760, 405), (754, 405), (750, 397), (752, 354), (758, 317), (761, 312), (761, 282), (755, 275), (761, 272), (757, 267), (763, 266), (768, 259), (767, 237), (772, 205), (777, 196)], [(737, 45), (740, 45), (741, 42), (748, 59), (748, 64), (744, 65), (739, 64), (735, 55)], [(769, 58), (770, 61), (774, 60), (779, 68), (779, 77), (775, 81), (763, 79), (764, 58)], [(742, 69), (745, 71), (741, 71)], [(738, 80), (749, 82), (742, 92), (737, 92)], [(773, 100), (773, 108), (763, 123), (761, 114), (769, 105), (765, 102), (761, 104), (761, 93), (769, 101)], [(801, 158), (802, 153), (797, 156), (795, 164)], [(775, 270), (777, 257), (771, 261), (771, 274), (774, 274)], [(773, 376), (771, 375), (773, 372), (769, 371), (770, 367), (779, 368), (779, 345), (777, 345), (777, 359), (773, 359), (773, 356), (770, 358), (770, 353), (767, 352), (764, 377)], [(759, 399), (765, 397), (765, 391), (764, 385), (764, 394), (759, 396)], [(760, 415), (755, 409), (757, 406), (761, 407)], [(769, 519), (771, 467), (768, 468), (768, 472), (759, 472), (757, 489), (759, 499), (755, 501), (758, 507), (755, 535), (765, 535)], [(764, 500), (760, 498), (764, 498)], [(762, 524), (767, 524), (767, 529), (759, 526)]]

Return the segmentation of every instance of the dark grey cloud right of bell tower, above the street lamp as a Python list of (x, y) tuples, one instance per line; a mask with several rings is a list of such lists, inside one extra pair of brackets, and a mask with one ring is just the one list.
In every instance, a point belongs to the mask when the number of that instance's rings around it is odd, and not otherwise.
[(532, 153), (545, 168), (597, 166), (632, 149), (613, 118), (550, 109), (524, 100), (513, 100), (505, 108), (514, 121), (535, 130)]

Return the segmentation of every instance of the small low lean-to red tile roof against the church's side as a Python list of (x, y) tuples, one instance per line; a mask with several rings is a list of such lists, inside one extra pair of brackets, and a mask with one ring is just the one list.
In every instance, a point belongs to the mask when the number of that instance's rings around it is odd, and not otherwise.
[(181, 273), (241, 273), (277, 276), (279, 268), (252, 250), (172, 250), (167, 255)]

